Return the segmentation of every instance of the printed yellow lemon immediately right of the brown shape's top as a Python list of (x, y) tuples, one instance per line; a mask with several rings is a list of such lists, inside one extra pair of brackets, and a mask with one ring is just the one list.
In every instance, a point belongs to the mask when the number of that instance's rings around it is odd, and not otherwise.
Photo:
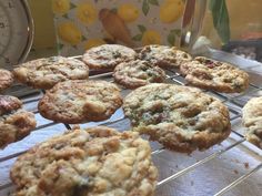
[(134, 22), (139, 18), (139, 9), (131, 3), (121, 4), (118, 14), (127, 23)]

